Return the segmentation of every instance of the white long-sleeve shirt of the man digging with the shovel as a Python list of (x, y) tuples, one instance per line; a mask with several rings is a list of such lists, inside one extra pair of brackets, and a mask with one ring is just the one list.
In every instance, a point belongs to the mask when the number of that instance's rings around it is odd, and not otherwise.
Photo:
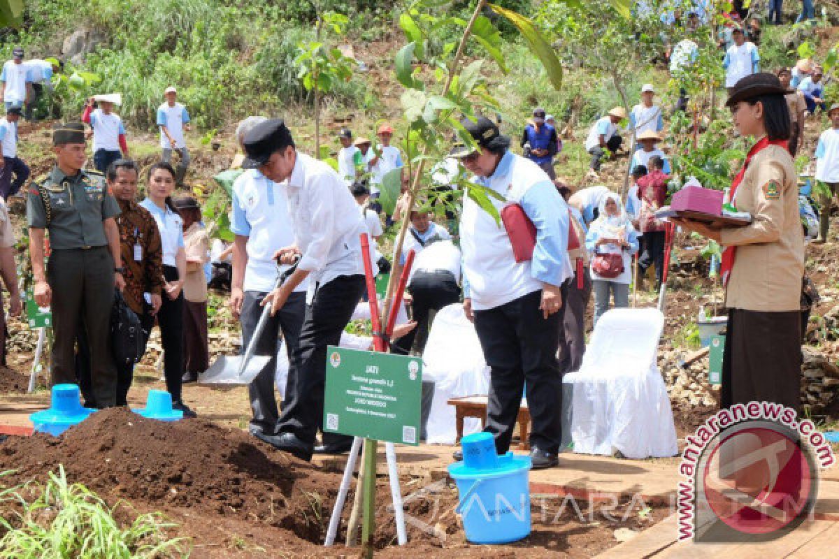
[(294, 242), (303, 256), (299, 270), (310, 272), (310, 292), (338, 276), (363, 274), (360, 235), (367, 232), (356, 200), (332, 168), (297, 152), (284, 184)]

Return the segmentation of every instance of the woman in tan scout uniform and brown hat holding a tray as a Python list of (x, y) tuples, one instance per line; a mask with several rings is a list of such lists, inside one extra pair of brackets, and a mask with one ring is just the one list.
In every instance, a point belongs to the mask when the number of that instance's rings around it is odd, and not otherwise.
[(748, 401), (799, 406), (804, 236), (795, 167), (786, 149), (788, 93), (777, 76), (760, 73), (739, 80), (726, 103), (740, 134), (755, 140), (731, 189), (732, 204), (748, 212), (752, 222), (711, 229), (696, 221), (675, 220), (726, 247), (723, 408)]

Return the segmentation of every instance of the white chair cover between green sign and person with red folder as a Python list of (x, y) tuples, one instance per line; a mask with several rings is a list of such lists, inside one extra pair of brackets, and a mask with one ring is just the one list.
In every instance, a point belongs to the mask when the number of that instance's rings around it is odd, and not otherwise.
[[(489, 391), (489, 367), (483, 359), (475, 326), (466, 318), (460, 303), (452, 303), (437, 313), (425, 344), (423, 363), (423, 380), (435, 382), (434, 401), (426, 424), (426, 442), (454, 444), (457, 438), (455, 408), (446, 401)], [(480, 430), (480, 420), (466, 418), (464, 435)]]

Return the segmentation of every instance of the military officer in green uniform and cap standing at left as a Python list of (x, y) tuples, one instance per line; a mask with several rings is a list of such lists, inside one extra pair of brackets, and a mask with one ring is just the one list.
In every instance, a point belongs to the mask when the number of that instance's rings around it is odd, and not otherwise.
[[(26, 215), (34, 298), (50, 306), (55, 342), (52, 383), (75, 383), (76, 330), (85, 324), (91, 352), (91, 391), (96, 406), (117, 401), (117, 369), (110, 347), (114, 287), (122, 289), (117, 200), (105, 176), (82, 170), (85, 129), (81, 122), (53, 130), (56, 163), (29, 189)], [(44, 231), (50, 231), (50, 261), (44, 271)]]

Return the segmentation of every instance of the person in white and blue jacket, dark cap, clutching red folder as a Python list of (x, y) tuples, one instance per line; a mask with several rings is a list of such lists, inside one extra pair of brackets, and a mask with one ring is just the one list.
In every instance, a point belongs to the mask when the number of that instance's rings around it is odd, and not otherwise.
[[(513, 438), (522, 392), (526, 391), (534, 468), (555, 466), (560, 447), (562, 376), (556, 362), (566, 281), (574, 274), (568, 257), (568, 208), (548, 175), (536, 163), (509, 151), (510, 140), (489, 119), (461, 121), (477, 142), (453, 153), (472, 182), (492, 189), (500, 212), (508, 201), (521, 205), (536, 226), (531, 261), (517, 262), (507, 231), (496, 217), (463, 199), (463, 251), (466, 317), (475, 323), (490, 367), (486, 431), (499, 454)], [(525, 389), (526, 385), (526, 389)]]

